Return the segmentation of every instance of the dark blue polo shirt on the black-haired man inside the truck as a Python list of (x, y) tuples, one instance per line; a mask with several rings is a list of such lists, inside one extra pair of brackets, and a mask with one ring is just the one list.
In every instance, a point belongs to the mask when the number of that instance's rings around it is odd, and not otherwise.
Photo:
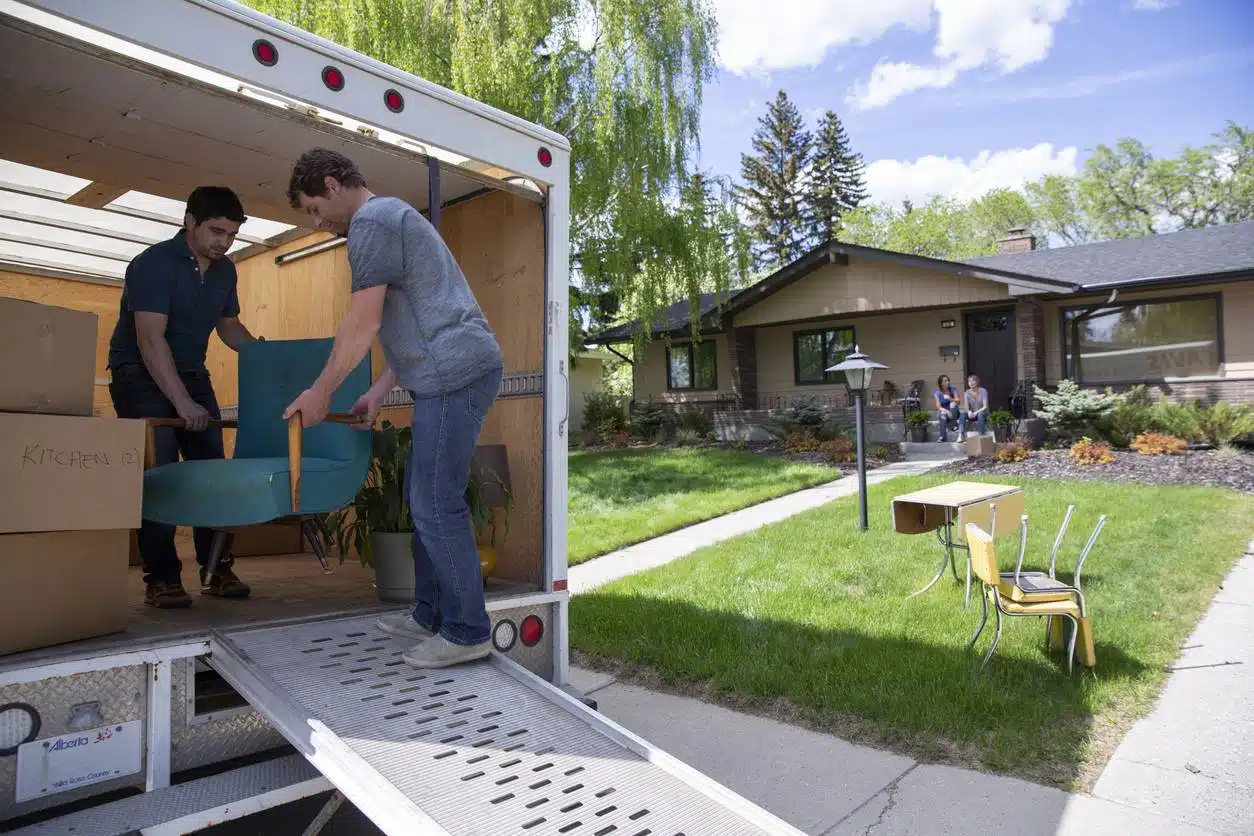
[(240, 316), (236, 285), (236, 266), (229, 258), (212, 262), (202, 278), (182, 231), (143, 251), (127, 266), (118, 325), (109, 341), (109, 368), (143, 362), (135, 311), (164, 313), (174, 366), (181, 371), (202, 368), (218, 320)]

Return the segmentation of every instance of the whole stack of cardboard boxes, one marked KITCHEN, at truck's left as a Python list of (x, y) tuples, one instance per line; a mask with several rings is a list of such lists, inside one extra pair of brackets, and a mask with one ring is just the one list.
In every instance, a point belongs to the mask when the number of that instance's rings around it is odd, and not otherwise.
[(0, 297), (0, 653), (127, 625), (144, 422), (92, 416), (97, 328)]

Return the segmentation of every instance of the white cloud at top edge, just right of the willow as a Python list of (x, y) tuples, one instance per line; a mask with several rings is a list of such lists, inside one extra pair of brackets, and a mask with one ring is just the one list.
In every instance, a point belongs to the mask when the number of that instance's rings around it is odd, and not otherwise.
[(925, 31), (933, 0), (714, 0), (719, 61), (741, 75), (816, 66), (894, 26)]

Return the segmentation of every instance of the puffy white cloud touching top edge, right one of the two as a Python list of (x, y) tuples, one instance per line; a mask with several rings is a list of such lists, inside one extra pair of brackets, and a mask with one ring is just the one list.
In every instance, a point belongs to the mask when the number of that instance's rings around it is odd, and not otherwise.
[(946, 88), (962, 74), (994, 66), (1007, 74), (1045, 60), (1053, 28), (1071, 0), (934, 0), (937, 63), (880, 61), (849, 97), (859, 109), (882, 108), (927, 88)]

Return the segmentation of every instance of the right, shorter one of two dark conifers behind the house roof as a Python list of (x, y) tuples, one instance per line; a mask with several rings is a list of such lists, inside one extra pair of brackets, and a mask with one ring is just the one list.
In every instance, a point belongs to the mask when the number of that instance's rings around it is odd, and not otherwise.
[(828, 110), (819, 120), (806, 191), (810, 243), (835, 241), (840, 219), (867, 199), (865, 165), (845, 134), (840, 117)]

